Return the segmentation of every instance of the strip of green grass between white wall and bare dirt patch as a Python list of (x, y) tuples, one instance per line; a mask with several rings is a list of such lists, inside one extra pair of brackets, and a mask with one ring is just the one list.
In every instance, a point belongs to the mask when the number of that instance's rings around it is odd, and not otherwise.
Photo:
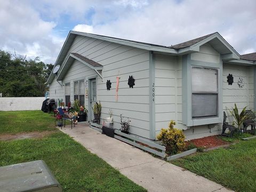
[(55, 130), (55, 118), (43, 111), (0, 111), (0, 134)]

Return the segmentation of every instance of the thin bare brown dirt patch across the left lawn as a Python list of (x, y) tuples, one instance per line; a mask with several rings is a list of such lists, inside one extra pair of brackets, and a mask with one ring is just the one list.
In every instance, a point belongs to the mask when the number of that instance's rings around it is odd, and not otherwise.
[(0, 134), (0, 141), (10, 141), (18, 139), (28, 139), (28, 138), (43, 138), (47, 135), (55, 133), (56, 131), (43, 131), (43, 132), (26, 132), (17, 134)]

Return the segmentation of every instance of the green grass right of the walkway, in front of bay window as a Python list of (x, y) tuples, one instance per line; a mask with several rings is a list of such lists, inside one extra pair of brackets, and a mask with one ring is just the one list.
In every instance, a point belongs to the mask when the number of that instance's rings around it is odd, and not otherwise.
[(172, 163), (235, 191), (256, 191), (256, 139)]

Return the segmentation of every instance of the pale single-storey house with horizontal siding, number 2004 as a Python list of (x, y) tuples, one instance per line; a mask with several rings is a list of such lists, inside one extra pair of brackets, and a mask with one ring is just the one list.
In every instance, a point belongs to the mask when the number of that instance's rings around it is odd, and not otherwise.
[(221, 133), (226, 107), (255, 108), (255, 61), (256, 53), (239, 55), (219, 33), (161, 46), (70, 31), (47, 84), (50, 98), (84, 103), (89, 121), (100, 101), (100, 124), (112, 108), (116, 129), (123, 114), (131, 134), (155, 140), (173, 119), (193, 139)]

